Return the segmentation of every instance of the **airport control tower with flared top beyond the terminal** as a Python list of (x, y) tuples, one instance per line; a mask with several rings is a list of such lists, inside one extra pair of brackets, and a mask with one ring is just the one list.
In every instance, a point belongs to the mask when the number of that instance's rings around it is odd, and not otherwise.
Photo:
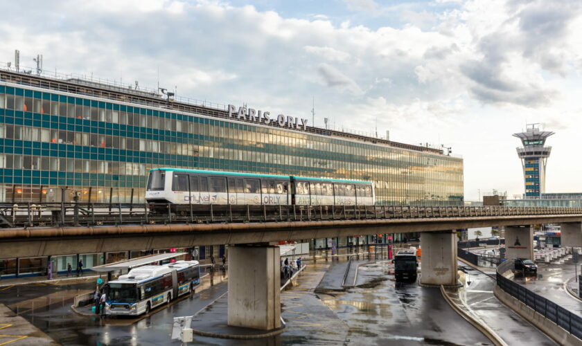
[(525, 182), (525, 198), (539, 199), (545, 192), (545, 169), (552, 147), (545, 147), (545, 140), (552, 131), (540, 131), (540, 124), (527, 124), (526, 131), (513, 136), (520, 138), (523, 147), (518, 147)]

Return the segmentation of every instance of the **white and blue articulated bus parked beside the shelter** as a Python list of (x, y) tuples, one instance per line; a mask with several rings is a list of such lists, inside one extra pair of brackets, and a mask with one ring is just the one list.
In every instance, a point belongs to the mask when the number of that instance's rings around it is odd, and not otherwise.
[(200, 264), (177, 261), (141, 266), (109, 281), (105, 314), (138, 316), (194, 291), (200, 285)]

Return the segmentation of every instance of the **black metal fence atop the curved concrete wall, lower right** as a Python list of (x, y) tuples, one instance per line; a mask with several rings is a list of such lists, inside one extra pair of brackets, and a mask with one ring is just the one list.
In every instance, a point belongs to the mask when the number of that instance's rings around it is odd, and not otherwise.
[(497, 286), (506, 293), (509, 293), (513, 298), (531, 307), (531, 309), (541, 316), (551, 320), (573, 336), (576, 336), (576, 338), (582, 339), (582, 317), (564, 309), (552, 302), (552, 300), (548, 300), (537, 293), (529, 291), (524, 286), (502, 275), (502, 273), (512, 270), (512, 268), (513, 263), (511, 261), (503, 262), (500, 266), (497, 266)]

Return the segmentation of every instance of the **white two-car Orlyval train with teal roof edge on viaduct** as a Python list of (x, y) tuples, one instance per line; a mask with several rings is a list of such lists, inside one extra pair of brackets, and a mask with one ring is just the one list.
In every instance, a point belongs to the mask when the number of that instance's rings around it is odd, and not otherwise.
[(369, 181), (178, 168), (150, 170), (148, 203), (373, 206)]

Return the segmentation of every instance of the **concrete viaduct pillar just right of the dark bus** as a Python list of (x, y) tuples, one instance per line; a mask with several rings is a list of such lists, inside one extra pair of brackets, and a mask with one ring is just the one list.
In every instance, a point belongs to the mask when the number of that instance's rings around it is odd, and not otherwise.
[(421, 233), (421, 284), (457, 284), (457, 233)]

